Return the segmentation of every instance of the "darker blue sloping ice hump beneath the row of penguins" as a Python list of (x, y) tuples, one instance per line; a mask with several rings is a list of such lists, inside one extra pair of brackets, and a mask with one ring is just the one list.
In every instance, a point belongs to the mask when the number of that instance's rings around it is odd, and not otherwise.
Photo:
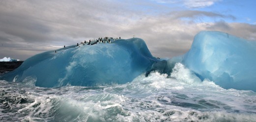
[(5, 81), (33, 79), (35, 86), (95, 86), (126, 83), (158, 61), (139, 38), (112, 43), (79, 45), (35, 55), (16, 70), (2, 76)]

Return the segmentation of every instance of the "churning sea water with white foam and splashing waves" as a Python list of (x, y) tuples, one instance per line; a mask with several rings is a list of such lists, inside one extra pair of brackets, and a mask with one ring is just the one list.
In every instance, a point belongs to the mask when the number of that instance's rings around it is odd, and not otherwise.
[[(170, 75), (170, 74), (169, 74)], [(0, 81), (1, 122), (255, 122), (256, 93), (199, 81), (181, 63), (125, 84), (36, 87)]]

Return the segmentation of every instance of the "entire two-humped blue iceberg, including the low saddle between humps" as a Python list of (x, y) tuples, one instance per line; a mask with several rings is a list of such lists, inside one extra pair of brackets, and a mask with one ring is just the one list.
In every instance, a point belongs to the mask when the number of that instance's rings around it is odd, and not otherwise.
[(170, 60), (153, 57), (139, 38), (111, 39), (111, 43), (73, 45), (56, 51), (35, 55), (0, 79), (35, 81), (40, 87), (121, 84), (154, 71), (171, 78), (179, 62), (202, 81), (209, 79), (226, 89), (256, 91), (256, 41), (223, 32), (200, 32), (186, 54)]

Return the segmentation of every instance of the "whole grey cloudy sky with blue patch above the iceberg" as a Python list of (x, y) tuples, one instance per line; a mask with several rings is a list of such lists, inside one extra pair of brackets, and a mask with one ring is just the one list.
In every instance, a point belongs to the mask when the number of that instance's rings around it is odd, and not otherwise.
[(81, 41), (144, 40), (155, 57), (185, 54), (200, 31), (256, 40), (256, 0), (0, 0), (0, 59), (25, 61)]

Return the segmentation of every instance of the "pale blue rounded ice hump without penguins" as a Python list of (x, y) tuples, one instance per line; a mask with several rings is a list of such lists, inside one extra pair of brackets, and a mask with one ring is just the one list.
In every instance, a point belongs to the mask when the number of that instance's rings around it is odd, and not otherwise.
[(201, 80), (227, 89), (256, 91), (256, 41), (203, 31), (195, 36), (182, 63)]

